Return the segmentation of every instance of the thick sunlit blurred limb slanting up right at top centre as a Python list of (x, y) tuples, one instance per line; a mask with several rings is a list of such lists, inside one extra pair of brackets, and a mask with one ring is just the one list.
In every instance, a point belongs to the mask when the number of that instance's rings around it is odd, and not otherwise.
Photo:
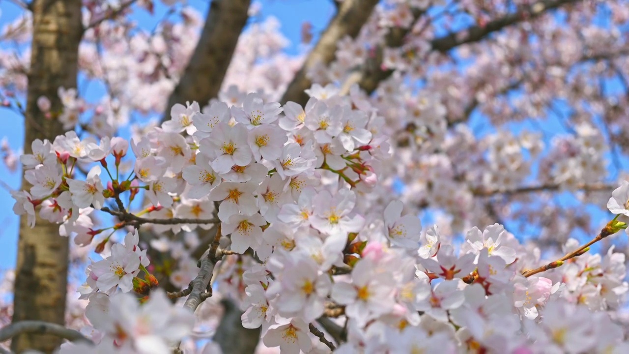
[(304, 65), (288, 85), (281, 103), (293, 101), (300, 105), (306, 104), (308, 94), (304, 93), (304, 90), (311, 85), (306, 73), (318, 64), (330, 64), (334, 60), (338, 41), (345, 36), (355, 38), (377, 3), (377, 0), (344, 0), (340, 4), (336, 16), (330, 21), (319, 42), (308, 54)]

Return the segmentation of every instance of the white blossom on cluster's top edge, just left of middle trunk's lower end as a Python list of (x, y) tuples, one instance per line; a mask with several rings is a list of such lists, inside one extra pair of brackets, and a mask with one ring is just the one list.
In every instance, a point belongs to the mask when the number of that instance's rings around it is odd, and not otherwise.
[(264, 103), (262, 96), (257, 93), (247, 94), (242, 108), (231, 107), (231, 115), (236, 119), (236, 122), (242, 123), (248, 129), (275, 122), (281, 112), (282, 108), (279, 103)]

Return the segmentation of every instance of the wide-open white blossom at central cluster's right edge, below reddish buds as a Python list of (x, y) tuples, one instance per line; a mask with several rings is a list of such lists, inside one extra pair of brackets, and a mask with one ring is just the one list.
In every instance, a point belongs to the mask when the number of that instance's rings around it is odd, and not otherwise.
[(313, 198), (311, 225), (326, 234), (359, 232), (365, 219), (352, 214), (355, 204), (356, 195), (351, 190), (342, 188), (335, 195), (326, 190), (321, 191)]

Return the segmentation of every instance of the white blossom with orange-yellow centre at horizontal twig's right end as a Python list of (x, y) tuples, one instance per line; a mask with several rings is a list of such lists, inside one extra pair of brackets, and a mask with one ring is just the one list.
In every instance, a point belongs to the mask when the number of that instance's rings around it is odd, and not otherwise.
[(262, 229), (266, 225), (262, 215), (231, 215), (228, 222), (223, 222), (221, 232), (223, 236), (231, 234), (231, 249), (237, 253), (245, 253), (247, 248), (255, 250), (262, 244)]

